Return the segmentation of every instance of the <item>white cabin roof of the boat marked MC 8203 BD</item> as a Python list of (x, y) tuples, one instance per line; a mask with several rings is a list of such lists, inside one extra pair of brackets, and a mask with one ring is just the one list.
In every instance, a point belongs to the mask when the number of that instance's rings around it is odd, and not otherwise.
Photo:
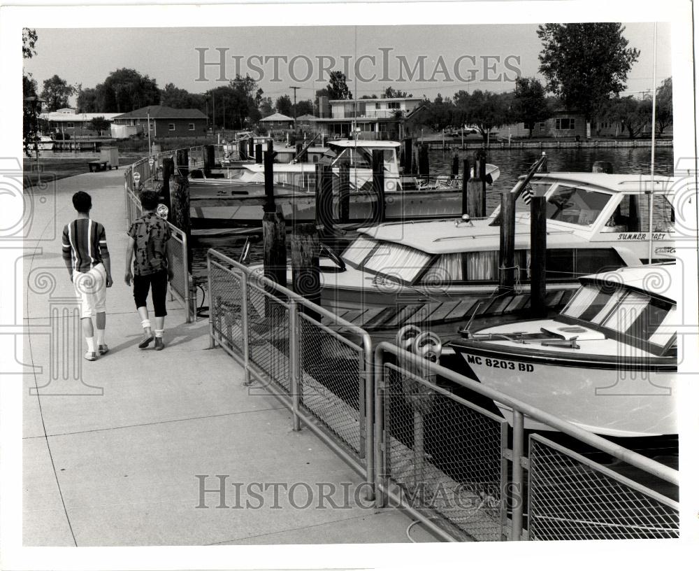
[(679, 284), (675, 262), (647, 266), (622, 267), (614, 272), (603, 272), (580, 278), (581, 283), (617, 284), (631, 290), (661, 297), (668, 302), (677, 302)]

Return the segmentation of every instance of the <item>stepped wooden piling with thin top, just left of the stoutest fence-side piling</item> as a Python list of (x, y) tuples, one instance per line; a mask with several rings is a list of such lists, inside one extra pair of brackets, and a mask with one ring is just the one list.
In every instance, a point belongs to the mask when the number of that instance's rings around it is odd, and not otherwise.
[(284, 216), (277, 210), (274, 199), (274, 156), (264, 154), (265, 204), (262, 216), (264, 274), (268, 279), (287, 286), (287, 228)]

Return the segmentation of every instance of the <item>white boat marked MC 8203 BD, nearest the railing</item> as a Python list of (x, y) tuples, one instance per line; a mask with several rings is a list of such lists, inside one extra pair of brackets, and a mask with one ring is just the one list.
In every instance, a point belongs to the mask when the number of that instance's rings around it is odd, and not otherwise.
[[(462, 357), (456, 370), (600, 435), (675, 435), (674, 269), (586, 276), (556, 318), (464, 332), (451, 344)], [(512, 423), (512, 409), (496, 404)], [(547, 430), (528, 417), (525, 428)]]

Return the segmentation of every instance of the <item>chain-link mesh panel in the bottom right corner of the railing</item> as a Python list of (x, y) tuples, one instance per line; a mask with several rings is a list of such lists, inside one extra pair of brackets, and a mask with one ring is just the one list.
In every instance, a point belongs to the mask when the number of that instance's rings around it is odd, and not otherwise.
[(679, 537), (679, 505), (608, 467), (532, 435), (530, 540)]

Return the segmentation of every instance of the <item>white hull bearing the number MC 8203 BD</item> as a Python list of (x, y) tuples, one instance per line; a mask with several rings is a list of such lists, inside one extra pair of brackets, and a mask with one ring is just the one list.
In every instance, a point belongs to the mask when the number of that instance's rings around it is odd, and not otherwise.
[[(524, 354), (455, 344), (459, 372), (580, 428), (610, 437), (677, 434), (672, 358)], [(512, 409), (496, 402), (509, 423)], [(525, 417), (529, 430), (552, 430)]]

